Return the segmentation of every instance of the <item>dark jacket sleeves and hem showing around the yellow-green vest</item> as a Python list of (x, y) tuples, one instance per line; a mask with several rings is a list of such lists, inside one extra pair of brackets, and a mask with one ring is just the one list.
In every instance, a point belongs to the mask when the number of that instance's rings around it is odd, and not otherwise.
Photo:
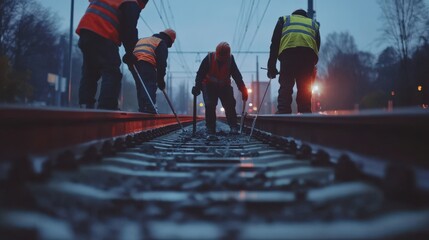
[[(285, 59), (287, 49), (285, 51), (283, 51), (280, 55), (278, 55), (279, 48), (280, 48), (280, 41), (282, 39), (283, 25), (284, 25), (283, 17), (280, 17), (279, 20), (277, 21), (276, 27), (274, 28), (273, 36), (271, 38), (270, 58), (268, 60), (268, 69), (273, 69), (273, 68), (275, 69), (277, 58), (280, 61)], [(319, 31), (317, 31), (317, 33), (316, 33), (316, 43), (317, 43), (317, 48), (320, 50), (320, 33), (319, 33)], [(307, 48), (303, 47), (303, 51), (308, 51), (310, 54), (312, 52), (316, 57), (315, 63), (317, 63), (317, 55), (314, 53), (314, 51), (312, 49), (309, 49), (309, 48), (307, 49)]]

